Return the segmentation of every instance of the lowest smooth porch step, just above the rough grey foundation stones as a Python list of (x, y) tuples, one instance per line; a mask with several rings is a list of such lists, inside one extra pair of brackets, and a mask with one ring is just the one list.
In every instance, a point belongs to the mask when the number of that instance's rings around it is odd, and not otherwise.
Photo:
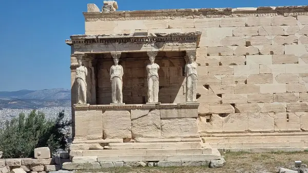
[(132, 162), (132, 161), (203, 161), (220, 159), (221, 155), (217, 149), (211, 154), (179, 154), (179, 155), (119, 155), (119, 156), (75, 156), (73, 163), (92, 162)]

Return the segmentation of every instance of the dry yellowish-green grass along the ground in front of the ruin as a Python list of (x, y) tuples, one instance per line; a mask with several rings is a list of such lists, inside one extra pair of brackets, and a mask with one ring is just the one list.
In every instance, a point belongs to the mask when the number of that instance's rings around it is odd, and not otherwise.
[(291, 153), (222, 153), (226, 165), (222, 168), (208, 167), (120, 167), (82, 172), (278, 172), (280, 167), (292, 169), (295, 160), (301, 160), (302, 164), (308, 164), (308, 152)]

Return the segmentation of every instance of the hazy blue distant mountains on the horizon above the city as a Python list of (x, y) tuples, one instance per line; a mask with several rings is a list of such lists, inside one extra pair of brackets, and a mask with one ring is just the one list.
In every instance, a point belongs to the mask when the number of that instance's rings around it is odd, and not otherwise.
[(0, 109), (38, 109), (70, 106), (71, 93), (66, 89), (0, 91)]

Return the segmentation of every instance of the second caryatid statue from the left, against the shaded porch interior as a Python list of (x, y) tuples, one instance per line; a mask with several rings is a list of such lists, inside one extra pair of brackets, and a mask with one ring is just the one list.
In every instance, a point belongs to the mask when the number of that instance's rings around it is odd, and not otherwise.
[(113, 66), (110, 68), (110, 80), (111, 80), (111, 97), (112, 103), (123, 103), (123, 67), (119, 64), (119, 58), (121, 53), (112, 54)]

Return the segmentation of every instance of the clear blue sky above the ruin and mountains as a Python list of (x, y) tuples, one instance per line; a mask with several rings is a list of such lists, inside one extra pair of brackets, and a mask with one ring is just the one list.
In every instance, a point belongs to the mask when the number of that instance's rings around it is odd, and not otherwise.
[[(119, 10), (308, 5), (286, 0), (118, 0)], [(0, 2), (0, 91), (70, 89), (70, 47), (65, 39), (84, 34), (87, 4), (103, 0)]]

